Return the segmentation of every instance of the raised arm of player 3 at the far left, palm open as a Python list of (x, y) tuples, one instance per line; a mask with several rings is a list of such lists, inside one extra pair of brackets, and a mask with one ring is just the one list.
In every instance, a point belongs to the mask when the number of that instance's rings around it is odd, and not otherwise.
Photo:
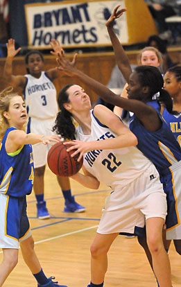
[(15, 49), (15, 40), (13, 39), (8, 40), (6, 47), (8, 55), (3, 69), (3, 78), (9, 85), (12, 85), (13, 87), (21, 87), (21, 89), (23, 89), (26, 83), (26, 78), (24, 76), (12, 75), (12, 61), (21, 48), (19, 47), (17, 50)]

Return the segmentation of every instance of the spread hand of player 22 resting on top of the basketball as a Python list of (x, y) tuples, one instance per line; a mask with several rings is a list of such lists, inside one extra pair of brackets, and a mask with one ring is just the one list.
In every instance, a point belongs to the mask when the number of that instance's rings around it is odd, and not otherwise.
[(75, 152), (72, 153), (71, 157), (74, 157), (75, 155), (80, 153), (78, 157), (78, 162), (80, 162), (80, 159), (83, 157), (84, 153), (87, 153), (88, 151), (92, 150), (90, 141), (78, 141), (74, 139), (73, 141), (65, 141), (64, 144), (71, 146), (70, 148), (67, 148), (67, 152), (75, 150)]

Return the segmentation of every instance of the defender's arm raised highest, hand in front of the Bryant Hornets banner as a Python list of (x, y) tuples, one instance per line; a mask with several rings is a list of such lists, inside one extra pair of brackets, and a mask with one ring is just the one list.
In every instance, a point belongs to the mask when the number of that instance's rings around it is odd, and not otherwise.
[(130, 62), (113, 28), (115, 19), (118, 19), (119, 17), (121, 17), (121, 15), (123, 15), (123, 12), (126, 12), (126, 8), (119, 10), (119, 7), (120, 5), (114, 8), (112, 15), (105, 23), (105, 26), (107, 27), (107, 32), (112, 42), (112, 46), (114, 49), (114, 55), (115, 55), (119, 70), (123, 74), (123, 77), (125, 78), (126, 82), (129, 82), (130, 74), (132, 73)]

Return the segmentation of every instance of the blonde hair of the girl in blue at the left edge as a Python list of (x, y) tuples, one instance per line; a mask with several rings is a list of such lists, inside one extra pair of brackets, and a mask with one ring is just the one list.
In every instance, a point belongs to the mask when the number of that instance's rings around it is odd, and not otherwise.
[(13, 93), (12, 89), (12, 87), (7, 87), (6, 89), (3, 89), (2, 92), (0, 92), (0, 141), (3, 139), (7, 128), (10, 127), (8, 120), (3, 115), (3, 112), (8, 112), (10, 100), (14, 96), (19, 96), (19, 94)]

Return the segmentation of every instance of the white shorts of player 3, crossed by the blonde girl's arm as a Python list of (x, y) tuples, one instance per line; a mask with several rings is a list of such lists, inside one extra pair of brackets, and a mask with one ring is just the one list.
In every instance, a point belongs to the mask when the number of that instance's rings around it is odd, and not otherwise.
[[(31, 118), (30, 132), (35, 134), (51, 135), (56, 134), (52, 131), (53, 125), (55, 125), (55, 119), (40, 120)], [(47, 162), (47, 155), (50, 145), (44, 145), (43, 143), (33, 144), (33, 159), (35, 168), (45, 166)]]

